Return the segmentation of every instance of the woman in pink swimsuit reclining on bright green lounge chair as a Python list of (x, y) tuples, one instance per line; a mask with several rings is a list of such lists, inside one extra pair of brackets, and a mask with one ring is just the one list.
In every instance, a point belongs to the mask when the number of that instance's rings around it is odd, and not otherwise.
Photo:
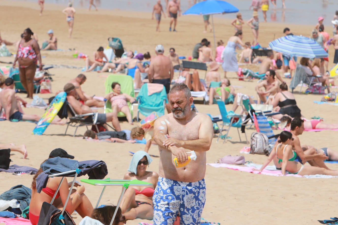
[(126, 115), (128, 122), (133, 124), (127, 101), (134, 103), (135, 99), (125, 93), (121, 93), (121, 86), (117, 82), (112, 83), (112, 89), (113, 91), (108, 93), (105, 96), (105, 99), (110, 100), (113, 111), (117, 110), (117, 112), (123, 112)]

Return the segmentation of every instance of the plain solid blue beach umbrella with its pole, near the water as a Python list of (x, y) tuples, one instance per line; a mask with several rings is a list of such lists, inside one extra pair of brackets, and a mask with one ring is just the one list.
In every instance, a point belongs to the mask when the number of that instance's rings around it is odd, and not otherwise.
[[(231, 13), (238, 12), (238, 8), (233, 6), (230, 3), (220, 0), (207, 0), (199, 2), (193, 6), (191, 6), (187, 11), (183, 13), (183, 15), (211, 15), (212, 28), (214, 32), (214, 45), (216, 43), (215, 40), (215, 29), (214, 29), (214, 14), (221, 13)], [(215, 46), (216, 48), (216, 46)]]

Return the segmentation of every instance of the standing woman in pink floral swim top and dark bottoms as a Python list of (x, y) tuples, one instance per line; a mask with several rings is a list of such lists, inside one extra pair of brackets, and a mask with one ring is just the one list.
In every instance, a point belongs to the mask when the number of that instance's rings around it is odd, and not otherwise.
[(40, 70), (42, 70), (40, 47), (37, 41), (31, 38), (32, 35), (33, 32), (29, 28), (23, 31), (23, 38), (19, 42), (18, 52), (13, 62), (13, 68), (15, 68), (15, 63), (19, 62), (20, 81), (30, 99), (33, 98), (33, 79), (37, 69), (37, 61), (39, 61)]

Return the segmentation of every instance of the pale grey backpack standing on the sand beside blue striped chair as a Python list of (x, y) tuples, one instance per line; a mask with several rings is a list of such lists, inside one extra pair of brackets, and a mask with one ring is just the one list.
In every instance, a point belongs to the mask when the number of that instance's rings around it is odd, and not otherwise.
[(265, 134), (254, 132), (250, 138), (250, 153), (269, 155), (269, 139)]

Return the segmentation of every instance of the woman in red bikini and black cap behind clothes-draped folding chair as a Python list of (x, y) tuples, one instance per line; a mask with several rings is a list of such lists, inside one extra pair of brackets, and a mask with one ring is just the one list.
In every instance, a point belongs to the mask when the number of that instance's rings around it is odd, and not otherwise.
[[(57, 151), (59, 151), (58, 155), (53, 154), (56, 153)], [(62, 150), (62, 152), (60, 153), (60, 151)], [(49, 158), (53, 158), (56, 156), (60, 156), (60, 157), (67, 157), (67, 158), (72, 158), (74, 159), (74, 156), (70, 156), (69, 154), (67, 154), (67, 152), (63, 149), (57, 148), (54, 149), (51, 152), (51, 155), (49, 156)], [(56, 152), (55, 152), (56, 151)], [(65, 152), (65, 154), (63, 154), (63, 152)], [(56, 153), (57, 154), (57, 153)], [(63, 154), (63, 155), (62, 155)], [(36, 189), (36, 183), (35, 183), (35, 179), (38, 177), (38, 175), (42, 172), (42, 169), (40, 168), (37, 172), (37, 174), (34, 175), (33, 177), (33, 181), (32, 181), (32, 197), (30, 199), (30, 203), (29, 203), (29, 220), (31, 222), (32, 225), (37, 225), (38, 221), (39, 221), (39, 215), (40, 215), (40, 210), (41, 210), (41, 206), (43, 202), (48, 202), (50, 203), (54, 194), (55, 194), (55, 190), (57, 189), (57, 186), (59, 185), (62, 177), (51, 177), (48, 179), (47, 181), (47, 185), (46, 188), (43, 188), (42, 191), (40, 193), (37, 192)], [(53, 202), (53, 205), (56, 208), (63, 208), (67, 196), (68, 196), (68, 192), (69, 192), (69, 186), (71, 185), (71, 183), (67, 183), (67, 179), (66, 177), (63, 179), (61, 187), (56, 195), (56, 198)], [(81, 186), (77, 183), (74, 184), (74, 187), (76, 187), (76, 190), (73, 189), (73, 193), (70, 195), (70, 199), (67, 203), (67, 207), (66, 207), (66, 211), (68, 212), (69, 215), (71, 215), (74, 210), (76, 210), (76, 212), (83, 218), (85, 216), (91, 216), (92, 212), (93, 212), (93, 206), (92, 203), (89, 201), (89, 199), (87, 198), (87, 196), (83, 193), (84, 192), (84, 186)], [(86, 208), (87, 210), (84, 211), (82, 210), (83, 208)]]

